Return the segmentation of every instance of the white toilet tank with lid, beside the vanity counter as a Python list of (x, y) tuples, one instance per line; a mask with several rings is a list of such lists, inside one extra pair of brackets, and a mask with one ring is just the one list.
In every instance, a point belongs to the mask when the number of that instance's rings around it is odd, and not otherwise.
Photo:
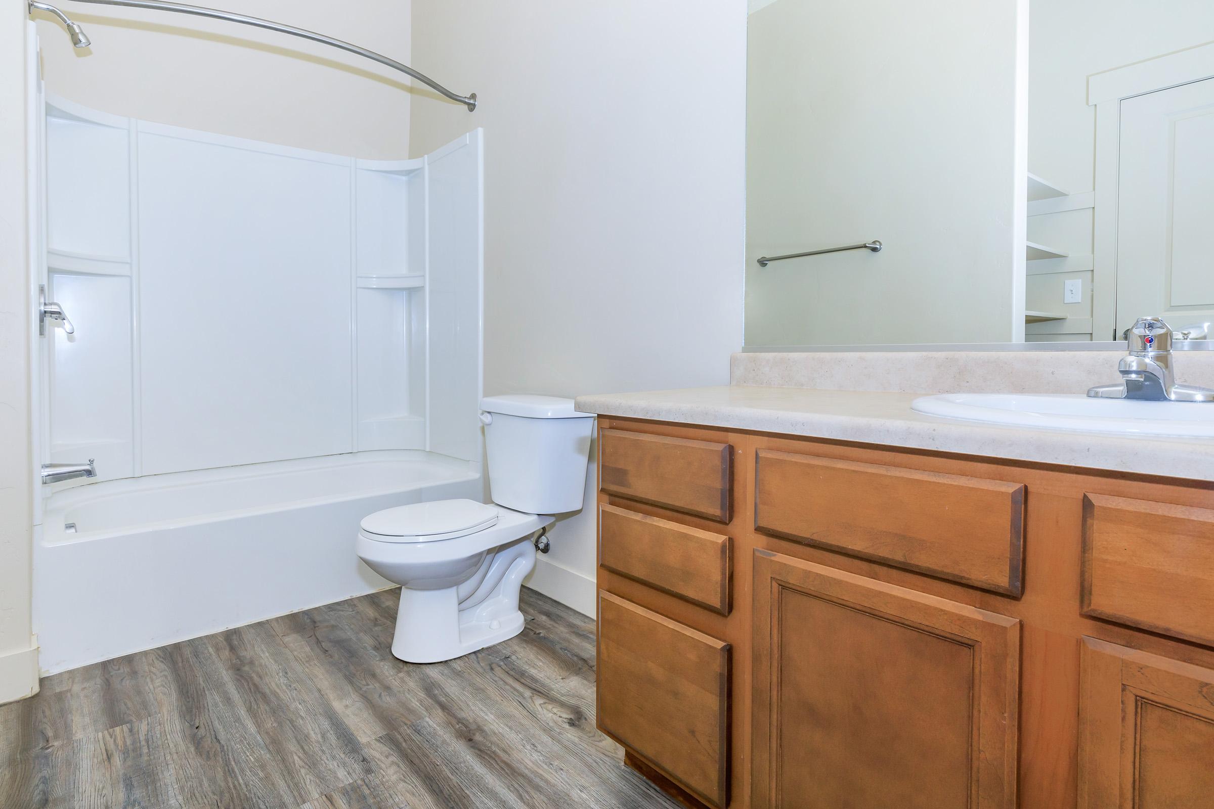
[(528, 514), (582, 508), (592, 414), (532, 394), (486, 397), (481, 410), (493, 502)]

